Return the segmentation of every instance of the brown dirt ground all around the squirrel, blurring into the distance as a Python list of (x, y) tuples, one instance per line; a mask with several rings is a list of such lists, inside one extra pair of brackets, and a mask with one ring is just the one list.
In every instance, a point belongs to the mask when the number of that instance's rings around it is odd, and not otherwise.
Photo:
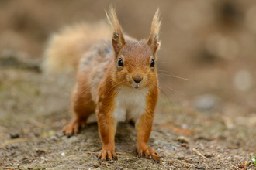
[[(111, 3), (124, 31), (137, 39), (148, 36), (151, 17), (161, 11), (157, 68), (163, 93), (149, 141), (159, 163), (137, 157), (130, 124), (117, 128), (118, 161), (97, 160), (97, 124), (63, 136), (74, 75), (46, 76), (40, 69), (52, 32), (104, 19)], [(149, 1), (142, 9), (144, 4), (0, 2), (0, 169), (256, 169), (255, 2)]]

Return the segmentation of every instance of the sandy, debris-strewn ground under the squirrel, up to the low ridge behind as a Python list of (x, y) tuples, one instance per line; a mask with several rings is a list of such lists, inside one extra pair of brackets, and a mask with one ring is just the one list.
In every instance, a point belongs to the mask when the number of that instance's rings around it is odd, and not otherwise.
[[(138, 158), (136, 131), (119, 124), (116, 152), (119, 160), (101, 162), (97, 124), (65, 137), (61, 129), (70, 120), (69, 83), (27, 69), (0, 71), (0, 167), (17, 169), (255, 169), (255, 117), (240, 125), (216, 112), (202, 112), (188, 104), (170, 104), (161, 96), (149, 145), (161, 162)], [(243, 121), (246, 123), (244, 124)], [(18, 136), (19, 135), (19, 138)]]

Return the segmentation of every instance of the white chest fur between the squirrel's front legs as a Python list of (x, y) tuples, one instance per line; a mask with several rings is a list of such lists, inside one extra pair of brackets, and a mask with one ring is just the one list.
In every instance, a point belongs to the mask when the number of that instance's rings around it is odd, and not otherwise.
[(141, 114), (144, 114), (147, 91), (147, 89), (122, 87), (115, 99), (116, 109), (113, 117), (115, 117), (116, 121), (123, 122), (132, 119), (137, 124)]

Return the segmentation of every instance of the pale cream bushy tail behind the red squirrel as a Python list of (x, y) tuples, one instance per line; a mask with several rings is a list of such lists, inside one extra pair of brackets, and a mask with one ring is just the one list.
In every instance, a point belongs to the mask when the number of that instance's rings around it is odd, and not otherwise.
[(81, 57), (95, 42), (106, 37), (111, 37), (111, 30), (104, 21), (67, 26), (51, 36), (44, 52), (43, 71), (61, 73), (76, 70)]

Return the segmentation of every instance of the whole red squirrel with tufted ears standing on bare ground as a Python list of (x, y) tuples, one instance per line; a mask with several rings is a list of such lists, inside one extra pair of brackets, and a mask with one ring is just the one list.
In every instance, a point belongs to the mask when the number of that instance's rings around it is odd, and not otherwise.
[(105, 22), (70, 26), (54, 34), (44, 55), (44, 69), (57, 72), (76, 70), (76, 83), (71, 92), (73, 117), (63, 133), (78, 134), (91, 114), (96, 114), (102, 150), (102, 161), (117, 159), (115, 134), (118, 122), (132, 121), (137, 130), (138, 156), (161, 156), (147, 142), (152, 131), (158, 98), (155, 62), (161, 42), (159, 9), (155, 12), (148, 39), (133, 39), (123, 34), (114, 8), (110, 7)]

